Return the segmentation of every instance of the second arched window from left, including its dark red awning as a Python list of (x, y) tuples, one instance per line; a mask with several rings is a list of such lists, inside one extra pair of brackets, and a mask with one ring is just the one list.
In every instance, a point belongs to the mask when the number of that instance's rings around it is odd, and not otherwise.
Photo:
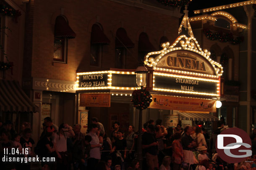
[(95, 23), (91, 27), (91, 66), (101, 67), (102, 47), (106, 44), (110, 44), (110, 40), (104, 34), (102, 26), (99, 23)]

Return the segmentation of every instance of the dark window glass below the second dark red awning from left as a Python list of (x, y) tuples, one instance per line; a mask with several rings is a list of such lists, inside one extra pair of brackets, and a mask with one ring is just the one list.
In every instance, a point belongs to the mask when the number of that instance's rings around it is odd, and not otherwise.
[(90, 65), (100, 67), (101, 56), (102, 56), (102, 44), (91, 44)]

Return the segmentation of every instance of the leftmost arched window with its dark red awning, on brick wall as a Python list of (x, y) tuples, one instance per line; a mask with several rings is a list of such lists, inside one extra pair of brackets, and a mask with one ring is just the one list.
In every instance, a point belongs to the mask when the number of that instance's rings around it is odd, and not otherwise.
[(63, 15), (57, 16), (54, 28), (53, 60), (67, 63), (68, 39), (76, 37), (76, 33), (68, 25)]

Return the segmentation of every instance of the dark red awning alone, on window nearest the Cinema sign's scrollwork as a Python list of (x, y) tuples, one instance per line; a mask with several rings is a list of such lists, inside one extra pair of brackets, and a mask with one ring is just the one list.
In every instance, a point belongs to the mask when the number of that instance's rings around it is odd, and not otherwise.
[(155, 51), (156, 48), (150, 43), (146, 33), (141, 33), (138, 39), (138, 51)]

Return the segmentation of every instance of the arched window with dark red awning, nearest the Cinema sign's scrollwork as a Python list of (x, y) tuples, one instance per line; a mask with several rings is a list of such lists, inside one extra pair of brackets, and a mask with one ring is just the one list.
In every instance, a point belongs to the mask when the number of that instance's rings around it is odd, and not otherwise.
[(150, 43), (148, 35), (146, 33), (141, 33), (138, 38), (138, 61), (144, 61), (145, 55), (155, 50), (156, 48)]

